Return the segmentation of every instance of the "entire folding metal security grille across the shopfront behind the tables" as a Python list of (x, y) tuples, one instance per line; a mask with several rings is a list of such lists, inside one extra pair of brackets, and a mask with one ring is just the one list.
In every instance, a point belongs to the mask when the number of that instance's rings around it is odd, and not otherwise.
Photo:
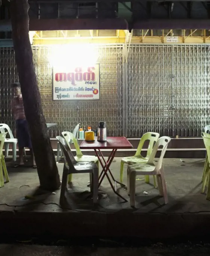
[[(210, 123), (210, 46), (95, 45), (100, 63), (100, 101), (53, 101), (53, 46), (33, 46), (38, 85), (47, 122), (56, 136), (77, 123), (97, 128), (107, 122), (109, 136), (140, 137), (147, 131), (168, 136), (200, 136)], [(0, 48), (0, 123), (14, 131), (11, 83), (18, 81), (14, 50)]]

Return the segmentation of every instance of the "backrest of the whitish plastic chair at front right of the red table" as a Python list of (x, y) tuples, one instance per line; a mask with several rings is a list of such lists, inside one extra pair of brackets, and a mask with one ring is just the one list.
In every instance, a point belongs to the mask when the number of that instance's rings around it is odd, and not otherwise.
[(167, 146), (168, 146), (168, 143), (171, 141), (171, 138), (168, 137), (168, 136), (163, 136), (163, 137), (160, 137), (157, 142), (155, 143), (154, 145), (154, 148), (153, 148), (153, 151), (150, 155), (150, 158), (148, 160), (148, 163), (154, 163), (154, 158), (156, 156), (156, 153), (157, 153), (157, 149), (160, 147), (160, 146), (163, 146), (162, 148), (162, 151), (160, 153), (160, 158), (156, 164), (156, 169), (157, 170), (160, 170), (161, 166), (162, 166), (162, 162), (163, 162), (163, 157), (165, 155), (165, 152), (166, 152), (166, 149), (167, 149)]

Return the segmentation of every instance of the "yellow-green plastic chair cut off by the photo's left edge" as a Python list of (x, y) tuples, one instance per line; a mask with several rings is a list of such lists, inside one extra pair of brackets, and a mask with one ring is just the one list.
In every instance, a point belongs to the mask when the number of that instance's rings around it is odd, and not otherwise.
[[(0, 187), (5, 186), (5, 181), (9, 182), (9, 176), (8, 176), (8, 172), (5, 164), (5, 157), (3, 155), (3, 146), (5, 143), (5, 137), (6, 137), (6, 133), (0, 134)], [(5, 175), (5, 181), (4, 181), (4, 175)]]

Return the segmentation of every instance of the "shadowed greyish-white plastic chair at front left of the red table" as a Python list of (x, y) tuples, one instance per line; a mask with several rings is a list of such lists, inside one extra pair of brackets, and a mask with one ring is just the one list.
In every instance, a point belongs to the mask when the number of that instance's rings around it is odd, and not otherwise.
[[(60, 204), (64, 203), (65, 191), (67, 190), (67, 179), (69, 174), (73, 173), (89, 173), (91, 192), (93, 194), (93, 202), (97, 203), (98, 200), (98, 166), (95, 163), (77, 162), (74, 158), (71, 149), (63, 137), (57, 136), (56, 139), (59, 141), (60, 148), (62, 149), (64, 156), (64, 167), (62, 184), (60, 190)], [(67, 190), (68, 191), (68, 190)]]

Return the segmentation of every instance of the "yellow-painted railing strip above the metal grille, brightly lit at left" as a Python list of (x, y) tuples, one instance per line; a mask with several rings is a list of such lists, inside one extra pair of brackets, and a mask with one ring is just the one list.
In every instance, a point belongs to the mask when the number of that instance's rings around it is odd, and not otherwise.
[[(111, 32), (110, 32), (111, 31)], [(107, 32), (107, 34), (106, 34)], [(85, 36), (83, 36), (85, 34)], [(179, 34), (179, 35), (177, 35)], [(69, 36), (70, 35), (70, 36)], [(128, 36), (130, 35), (129, 39)], [(98, 30), (75, 30), (75, 31), (36, 31), (33, 37), (33, 44), (115, 44), (115, 43), (210, 43), (210, 32), (208, 30), (104, 30), (103, 36)]]

